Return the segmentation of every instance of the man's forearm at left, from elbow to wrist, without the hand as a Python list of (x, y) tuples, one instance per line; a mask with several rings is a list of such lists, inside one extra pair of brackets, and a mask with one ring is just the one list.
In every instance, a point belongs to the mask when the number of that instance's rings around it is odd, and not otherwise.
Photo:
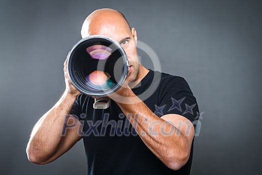
[(45, 161), (59, 146), (65, 116), (70, 113), (77, 96), (66, 92), (57, 103), (47, 111), (32, 129), (26, 152), (30, 161)]

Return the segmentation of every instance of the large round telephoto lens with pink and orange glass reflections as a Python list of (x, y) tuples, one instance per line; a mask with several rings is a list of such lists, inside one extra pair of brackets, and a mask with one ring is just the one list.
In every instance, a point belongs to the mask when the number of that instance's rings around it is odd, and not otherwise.
[(81, 93), (106, 96), (125, 81), (127, 56), (113, 39), (92, 35), (73, 46), (68, 55), (67, 72), (72, 84)]

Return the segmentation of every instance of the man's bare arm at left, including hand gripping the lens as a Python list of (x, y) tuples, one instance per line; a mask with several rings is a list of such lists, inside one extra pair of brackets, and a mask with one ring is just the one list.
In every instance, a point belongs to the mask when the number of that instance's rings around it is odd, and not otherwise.
[[(59, 101), (34, 125), (26, 147), (27, 157), (33, 163), (45, 164), (55, 160), (81, 138), (78, 134), (81, 123), (75, 117), (69, 116), (79, 91), (68, 79), (66, 62), (67, 60), (64, 62), (66, 90)], [(74, 124), (75, 127), (67, 128), (62, 136), (65, 124)]]

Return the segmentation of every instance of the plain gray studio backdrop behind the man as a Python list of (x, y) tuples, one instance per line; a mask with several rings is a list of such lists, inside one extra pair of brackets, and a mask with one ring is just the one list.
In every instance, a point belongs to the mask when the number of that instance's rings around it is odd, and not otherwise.
[(64, 90), (84, 18), (102, 7), (122, 11), (162, 70), (189, 82), (203, 112), (192, 174), (260, 174), (260, 0), (0, 0), (0, 174), (85, 174), (82, 140), (47, 165), (25, 147)]

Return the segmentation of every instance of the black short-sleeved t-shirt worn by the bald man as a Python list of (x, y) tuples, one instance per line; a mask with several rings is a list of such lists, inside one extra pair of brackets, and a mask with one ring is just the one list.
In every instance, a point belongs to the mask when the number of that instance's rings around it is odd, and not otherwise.
[[(133, 92), (142, 94), (154, 77), (160, 83), (144, 103), (158, 116), (176, 113), (196, 123), (197, 101), (183, 77), (150, 70)], [(188, 162), (172, 170), (145, 145), (113, 100), (107, 109), (94, 109), (93, 103), (92, 97), (80, 94), (71, 111), (83, 124), (87, 174), (190, 174), (193, 143)]]

